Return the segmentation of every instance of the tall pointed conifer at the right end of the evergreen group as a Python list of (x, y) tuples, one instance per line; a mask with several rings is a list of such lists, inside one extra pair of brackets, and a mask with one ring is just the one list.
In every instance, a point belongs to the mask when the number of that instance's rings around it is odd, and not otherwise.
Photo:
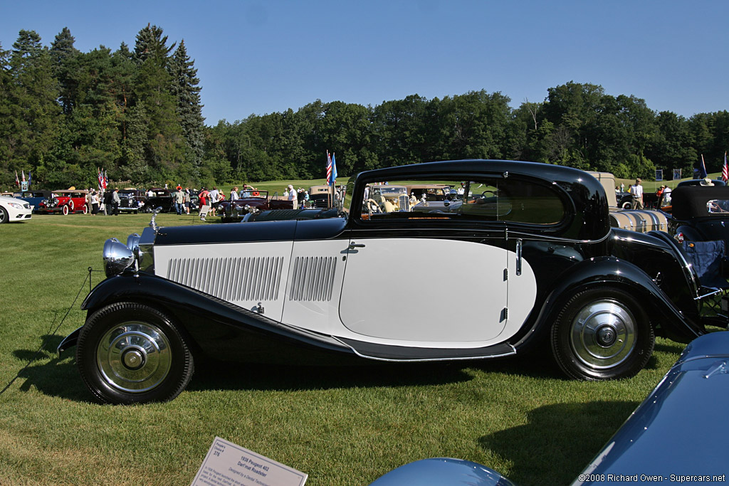
[(190, 60), (184, 39), (172, 56), (169, 71), (172, 77), (171, 93), (177, 100), (177, 117), (182, 136), (190, 148), (190, 162), (198, 167), (203, 158), (203, 105), (200, 104), (200, 79), (195, 61)]

